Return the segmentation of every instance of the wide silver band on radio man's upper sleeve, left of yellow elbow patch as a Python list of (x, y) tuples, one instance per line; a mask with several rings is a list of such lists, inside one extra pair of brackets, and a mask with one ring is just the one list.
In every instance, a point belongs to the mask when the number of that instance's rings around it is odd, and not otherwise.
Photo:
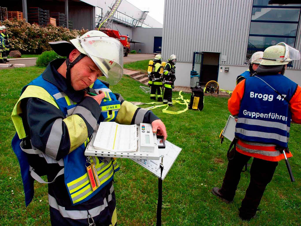
[(57, 152), (63, 135), (62, 123), (62, 118), (58, 118), (54, 121), (46, 144), (45, 153), (54, 159), (57, 157)]

